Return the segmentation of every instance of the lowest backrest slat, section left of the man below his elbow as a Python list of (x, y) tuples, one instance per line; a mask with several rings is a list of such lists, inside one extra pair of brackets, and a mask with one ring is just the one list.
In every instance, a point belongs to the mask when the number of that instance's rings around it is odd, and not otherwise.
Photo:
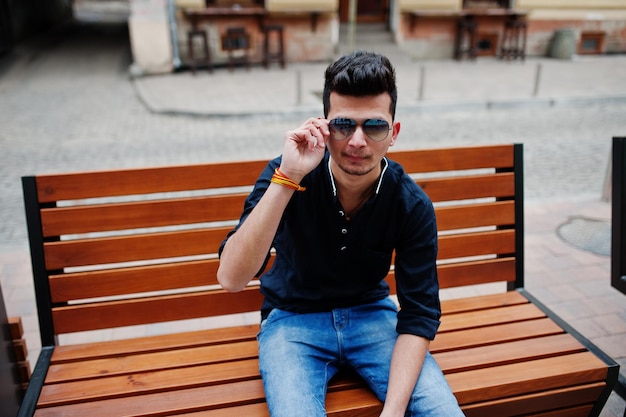
[(185, 320), (197, 317), (245, 313), (250, 306), (261, 308), (262, 296), (251, 287), (239, 293), (202, 291), (132, 300), (70, 305), (52, 309), (58, 333), (133, 326), (136, 324)]

